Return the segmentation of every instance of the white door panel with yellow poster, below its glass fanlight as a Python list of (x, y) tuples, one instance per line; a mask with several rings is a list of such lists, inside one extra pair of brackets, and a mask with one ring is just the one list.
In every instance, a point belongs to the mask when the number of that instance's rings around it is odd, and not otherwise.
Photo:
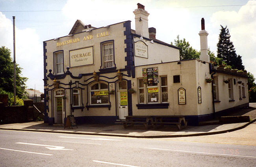
[(128, 95), (127, 91), (119, 92), (119, 119), (125, 119), (128, 116)]

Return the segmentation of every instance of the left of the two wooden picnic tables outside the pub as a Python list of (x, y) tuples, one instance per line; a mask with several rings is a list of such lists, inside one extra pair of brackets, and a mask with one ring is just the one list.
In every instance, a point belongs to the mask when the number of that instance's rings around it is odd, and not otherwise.
[(121, 121), (124, 128), (134, 126), (134, 124), (143, 124), (148, 129), (153, 126), (152, 116), (125, 116), (125, 121)]

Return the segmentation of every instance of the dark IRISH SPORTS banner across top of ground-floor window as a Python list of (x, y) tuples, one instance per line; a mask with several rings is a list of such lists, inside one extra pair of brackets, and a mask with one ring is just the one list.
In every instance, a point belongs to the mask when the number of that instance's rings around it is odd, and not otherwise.
[(158, 83), (158, 67), (143, 68), (142, 77), (145, 84)]

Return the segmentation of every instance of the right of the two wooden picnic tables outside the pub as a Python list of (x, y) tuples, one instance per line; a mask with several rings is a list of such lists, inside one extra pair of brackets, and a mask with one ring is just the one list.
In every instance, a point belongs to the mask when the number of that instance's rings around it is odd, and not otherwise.
[[(187, 127), (187, 121), (185, 120), (185, 116), (154, 116), (154, 118), (155, 121), (153, 122), (153, 124), (156, 128), (163, 127), (163, 124), (176, 125), (179, 130)], [(176, 120), (176, 122), (171, 122), (174, 120), (168, 120), (168, 122), (165, 122), (166, 119), (164, 118), (178, 118), (178, 122)], [(159, 124), (160, 126), (158, 126)]]

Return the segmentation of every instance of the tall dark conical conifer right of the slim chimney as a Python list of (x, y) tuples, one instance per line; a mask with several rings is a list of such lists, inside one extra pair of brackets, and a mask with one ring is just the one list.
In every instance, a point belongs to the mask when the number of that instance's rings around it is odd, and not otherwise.
[(230, 34), (227, 26), (221, 26), (219, 34), (219, 42), (217, 44), (217, 57), (223, 59), (227, 65), (232, 66), (233, 69), (244, 70), (242, 57), (237, 56), (233, 42), (230, 41)]

